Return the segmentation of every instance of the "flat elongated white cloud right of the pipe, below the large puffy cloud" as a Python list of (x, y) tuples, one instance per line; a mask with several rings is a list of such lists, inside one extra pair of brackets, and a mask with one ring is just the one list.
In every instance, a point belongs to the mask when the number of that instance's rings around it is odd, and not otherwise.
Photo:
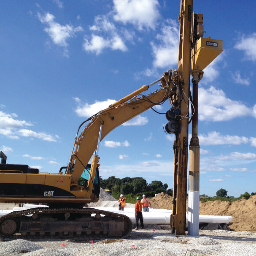
[(208, 132), (208, 135), (199, 135), (200, 145), (240, 145), (248, 143), (249, 139), (245, 136), (222, 135), (219, 132)]

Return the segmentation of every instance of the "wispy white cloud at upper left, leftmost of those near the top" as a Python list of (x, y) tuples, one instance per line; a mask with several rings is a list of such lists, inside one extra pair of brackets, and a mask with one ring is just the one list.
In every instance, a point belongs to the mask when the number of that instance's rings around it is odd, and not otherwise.
[(68, 38), (75, 36), (75, 33), (83, 31), (81, 26), (73, 27), (72, 25), (60, 25), (54, 21), (54, 15), (47, 12), (45, 15), (38, 13), (38, 19), (41, 23), (46, 24), (48, 27), (45, 28), (45, 32), (53, 40), (53, 43), (64, 47), (64, 56), (68, 57)]

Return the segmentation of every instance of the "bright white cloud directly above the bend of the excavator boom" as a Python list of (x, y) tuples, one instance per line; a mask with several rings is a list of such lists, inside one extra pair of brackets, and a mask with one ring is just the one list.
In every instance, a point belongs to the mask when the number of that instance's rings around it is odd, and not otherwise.
[(75, 109), (75, 113), (77, 113), (79, 117), (91, 117), (116, 102), (115, 100), (107, 99), (102, 102), (95, 101), (93, 104), (85, 103), (82, 105), (79, 98), (75, 97), (74, 100), (78, 103), (78, 106)]

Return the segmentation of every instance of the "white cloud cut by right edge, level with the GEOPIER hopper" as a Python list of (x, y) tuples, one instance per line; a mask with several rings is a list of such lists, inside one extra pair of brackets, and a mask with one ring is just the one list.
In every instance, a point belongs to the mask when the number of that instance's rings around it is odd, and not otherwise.
[(248, 37), (243, 35), (234, 48), (244, 51), (246, 59), (256, 61), (256, 33), (254, 32)]

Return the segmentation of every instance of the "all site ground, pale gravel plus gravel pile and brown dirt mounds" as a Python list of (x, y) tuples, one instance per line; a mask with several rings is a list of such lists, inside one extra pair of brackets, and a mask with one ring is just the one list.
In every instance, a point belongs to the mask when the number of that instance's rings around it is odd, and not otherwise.
[[(171, 209), (172, 198), (160, 194), (151, 199), (152, 208)], [(101, 191), (98, 203), (90, 207), (117, 207), (118, 202)], [(0, 203), (0, 209), (12, 209), (12, 203)], [(134, 207), (126, 204), (126, 207)], [(200, 203), (201, 215), (231, 215), (233, 223), (226, 230), (199, 230), (199, 236), (178, 236), (171, 233), (169, 225), (145, 225), (145, 230), (132, 230), (124, 239), (73, 240), (73, 239), (23, 239), (19, 235), (0, 240), (0, 255), (23, 253), (26, 256), (256, 256), (256, 196), (228, 202)]]

